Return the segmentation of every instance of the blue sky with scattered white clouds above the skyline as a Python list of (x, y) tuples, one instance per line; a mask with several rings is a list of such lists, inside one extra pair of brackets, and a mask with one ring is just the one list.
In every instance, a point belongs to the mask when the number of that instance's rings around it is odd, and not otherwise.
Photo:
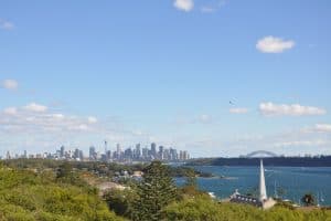
[[(331, 154), (331, 2), (1, 1), (0, 155)], [(232, 101), (233, 104), (229, 104)]]

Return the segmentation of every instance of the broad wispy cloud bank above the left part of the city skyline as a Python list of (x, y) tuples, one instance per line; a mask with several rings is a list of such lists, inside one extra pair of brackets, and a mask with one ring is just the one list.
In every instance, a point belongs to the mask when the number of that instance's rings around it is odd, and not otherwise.
[(94, 141), (131, 145), (145, 141), (149, 134), (127, 127), (116, 117), (76, 116), (58, 113), (45, 105), (30, 103), (0, 110), (1, 150), (53, 150), (60, 145), (86, 148)]

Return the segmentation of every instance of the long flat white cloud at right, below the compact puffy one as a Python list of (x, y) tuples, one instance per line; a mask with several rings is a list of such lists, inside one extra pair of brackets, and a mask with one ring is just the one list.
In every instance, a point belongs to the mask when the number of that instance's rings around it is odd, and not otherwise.
[(300, 104), (274, 104), (261, 103), (259, 110), (265, 116), (305, 116), (305, 115), (324, 115), (327, 110), (320, 107), (302, 106)]

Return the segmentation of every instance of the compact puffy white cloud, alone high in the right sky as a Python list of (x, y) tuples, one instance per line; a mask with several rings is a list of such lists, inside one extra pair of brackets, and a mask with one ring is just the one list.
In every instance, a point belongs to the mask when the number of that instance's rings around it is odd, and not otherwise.
[(256, 49), (263, 53), (281, 53), (285, 50), (292, 49), (293, 46), (293, 41), (285, 41), (276, 36), (266, 36), (258, 40), (256, 44)]

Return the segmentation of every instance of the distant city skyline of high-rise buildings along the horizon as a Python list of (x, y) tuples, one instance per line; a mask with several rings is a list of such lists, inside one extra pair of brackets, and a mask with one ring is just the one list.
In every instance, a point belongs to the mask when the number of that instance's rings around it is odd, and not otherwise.
[(95, 146), (90, 146), (88, 149), (88, 156), (85, 156), (83, 150), (75, 148), (74, 150), (66, 150), (65, 146), (61, 146), (54, 154), (44, 152), (28, 155), (24, 150), (23, 155), (11, 156), (10, 151), (7, 151), (6, 159), (15, 158), (40, 158), (40, 159), (57, 159), (57, 160), (75, 160), (75, 161), (106, 161), (106, 162), (134, 162), (134, 161), (152, 161), (161, 160), (166, 162), (185, 161), (190, 159), (190, 154), (186, 150), (180, 150), (164, 146), (157, 146), (156, 143), (150, 145), (150, 148), (141, 148), (140, 144), (121, 148), (120, 144), (116, 145), (116, 149), (111, 151), (108, 149), (107, 141), (105, 141), (104, 152), (98, 152)]

